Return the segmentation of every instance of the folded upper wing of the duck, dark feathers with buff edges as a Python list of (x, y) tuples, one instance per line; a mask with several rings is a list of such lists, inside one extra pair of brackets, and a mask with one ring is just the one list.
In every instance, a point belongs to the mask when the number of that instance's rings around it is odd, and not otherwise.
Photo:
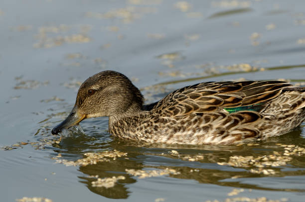
[(266, 103), (290, 86), (293, 85), (282, 81), (199, 83), (170, 93), (152, 110), (168, 117), (223, 111), (223, 108)]

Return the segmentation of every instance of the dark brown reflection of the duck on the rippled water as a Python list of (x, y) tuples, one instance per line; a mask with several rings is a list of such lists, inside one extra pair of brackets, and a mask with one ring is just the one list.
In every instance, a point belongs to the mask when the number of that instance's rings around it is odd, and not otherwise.
[[(281, 137), (274, 137), (268, 139), (266, 142), (270, 140), (274, 140), (276, 142), (287, 144), (290, 141), (298, 139), (301, 134), (301, 130), (294, 130), (293, 132), (289, 133), (290, 135), (285, 135)], [(63, 141), (68, 141), (68, 139), (64, 139)], [(179, 148), (179, 154), (173, 154), (169, 153), (171, 149), (161, 149), (157, 148), (157, 145), (162, 144), (152, 144), (156, 147), (153, 147), (150, 149), (149, 147), (142, 147), (142, 144), (135, 144), (135, 145), (129, 145), (133, 144), (133, 141), (122, 141), (119, 139), (115, 139), (113, 141), (108, 142), (109, 145), (104, 147), (104, 149), (117, 149), (123, 152), (128, 152), (128, 158), (118, 157), (116, 160), (113, 158), (109, 158), (109, 161), (100, 161), (96, 164), (92, 163), (86, 166), (80, 166), (78, 171), (82, 172), (78, 178), (80, 178), (80, 182), (84, 183), (86, 187), (93, 193), (96, 193), (98, 195), (104, 196), (106, 198), (110, 199), (127, 199), (131, 195), (139, 196), (140, 193), (145, 193), (147, 190), (154, 190), (154, 192), (162, 191), (164, 189), (164, 186), (166, 187), (168, 183), (172, 182), (171, 180), (165, 180), (166, 183), (162, 184), (164, 182), (163, 180), (148, 180), (145, 181), (144, 179), (139, 179), (139, 177), (135, 175), (131, 175), (127, 173), (127, 169), (135, 169), (139, 170), (141, 172), (149, 172), (149, 171), (162, 171), (164, 169), (174, 169), (179, 174), (165, 174), (160, 176), (175, 178), (175, 179), (191, 179), (195, 180), (199, 183), (204, 184), (212, 184), (212, 185), (219, 185), (219, 186), (227, 186), (232, 188), (244, 188), (244, 189), (253, 189), (253, 190), (273, 190), (273, 191), (283, 191), (282, 188), (266, 188), (265, 186), (258, 186), (256, 183), (253, 184), (247, 184), (247, 182), (244, 181), (245, 178), (247, 179), (254, 179), (257, 177), (261, 177), (259, 174), (253, 174), (249, 172), (254, 167), (247, 167), (245, 164), (251, 165), (251, 161), (239, 163), (239, 166), (236, 167), (228, 167), (228, 166), (219, 166), (218, 162), (228, 162), (230, 161), (230, 157), (234, 154), (243, 154), (246, 156), (255, 154), (255, 158), (261, 156), (266, 157), (270, 154), (274, 155), (274, 153), (271, 150), (268, 149), (259, 149), (259, 152), (254, 152), (256, 149), (256, 146), (236, 146), (236, 145), (221, 145), (221, 146), (214, 146), (214, 145), (201, 145), (200, 150), (196, 149), (189, 149), (190, 145), (172, 145), (177, 148)], [(84, 141), (81, 143), (84, 149), (88, 149), (88, 142)], [(268, 147), (270, 147), (270, 142), (267, 143)], [(195, 146), (195, 145), (194, 145)], [(283, 147), (274, 145), (274, 148), (279, 147), (277, 151), (284, 150)], [(93, 147), (90, 147), (90, 150), (98, 151), (99, 149), (103, 149), (103, 144), (95, 144)], [(204, 149), (202, 149), (204, 148)], [(217, 150), (214, 150), (213, 148), (217, 148)], [(262, 148), (258, 146), (258, 148)], [(65, 153), (67, 153), (67, 157), (71, 157), (69, 154), (75, 154), (75, 145), (71, 143), (68, 147), (64, 147)], [(71, 152), (69, 150), (72, 149)], [(254, 149), (254, 150), (253, 150)], [(230, 151), (230, 152), (228, 152)], [(258, 150), (256, 150), (258, 151)], [(110, 151), (111, 152), (111, 151)], [(199, 152), (199, 154), (198, 154)], [(234, 153), (232, 153), (234, 152)], [(194, 162), (188, 161), (184, 157), (196, 157), (197, 155), (201, 155), (204, 158), (199, 159)], [(63, 158), (65, 158), (65, 155), (63, 155)], [(290, 157), (288, 157), (290, 158)], [(278, 161), (277, 159), (271, 160), (271, 161)], [(261, 160), (259, 163), (265, 163), (266, 161)], [(297, 166), (297, 161), (292, 161), (290, 164), (293, 166)], [(242, 168), (242, 169), (240, 169)], [(277, 167), (272, 168), (276, 172), (280, 173), (277, 174), (277, 176), (300, 176), (303, 175), (302, 171), (288, 171), (288, 170), (282, 170), (283, 167)], [(163, 172), (163, 171), (162, 171)], [(90, 176), (90, 177), (89, 177)], [(104, 178), (113, 178), (118, 176), (124, 176), (124, 180), (119, 180), (114, 184), (114, 187), (106, 188), (106, 187), (93, 187), (92, 182), (97, 180), (97, 177), (104, 179)], [(152, 177), (152, 176), (151, 176)], [(157, 177), (157, 176), (153, 176)], [(233, 179), (234, 178), (234, 179)], [(239, 179), (237, 179), (239, 178)], [(133, 185), (136, 182), (142, 183), (138, 185)], [(255, 181), (255, 180), (254, 180)], [(160, 186), (157, 188), (155, 187), (155, 183), (158, 182)], [(174, 181), (175, 183), (177, 181)], [(143, 187), (143, 183), (145, 186)], [(192, 186), (190, 186), (189, 181), (179, 181), (178, 184), (184, 185), (183, 188), (185, 188), (185, 184), (187, 184), (187, 189), (192, 189)], [(193, 186), (200, 187), (197, 183), (194, 183)], [(133, 189), (133, 188), (137, 189)], [(203, 185), (204, 187), (204, 185)], [(285, 187), (285, 186), (284, 186)], [(181, 187), (180, 187), (181, 188)], [(176, 189), (179, 189), (178, 187)], [(176, 189), (173, 189), (171, 191), (172, 194), (176, 193)], [(189, 192), (190, 190), (185, 190), (185, 192)], [(291, 192), (302, 192), (301, 188), (295, 188), (290, 189)], [(141, 195), (141, 194), (140, 194)]]

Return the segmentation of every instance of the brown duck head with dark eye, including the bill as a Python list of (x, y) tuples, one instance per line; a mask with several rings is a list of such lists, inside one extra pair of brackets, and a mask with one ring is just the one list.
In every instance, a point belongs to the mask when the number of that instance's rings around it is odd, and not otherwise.
[(139, 89), (125, 75), (115, 71), (100, 72), (80, 86), (72, 111), (52, 129), (52, 134), (85, 118), (136, 113), (142, 109), (143, 100)]

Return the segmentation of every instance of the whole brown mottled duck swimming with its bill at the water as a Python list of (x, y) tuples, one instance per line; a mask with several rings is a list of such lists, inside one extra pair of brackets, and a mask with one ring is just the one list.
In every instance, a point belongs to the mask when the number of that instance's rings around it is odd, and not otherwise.
[(168, 144), (232, 144), (278, 136), (305, 120), (305, 88), (282, 81), (204, 82), (143, 105), (132, 82), (100, 72), (79, 88), (69, 116), (53, 128), (109, 116), (109, 132)]

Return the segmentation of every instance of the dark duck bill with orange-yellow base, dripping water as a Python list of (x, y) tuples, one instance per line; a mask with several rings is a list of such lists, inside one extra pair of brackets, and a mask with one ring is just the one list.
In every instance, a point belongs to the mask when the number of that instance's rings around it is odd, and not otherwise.
[(76, 125), (85, 118), (86, 118), (86, 114), (79, 113), (78, 107), (75, 104), (68, 117), (52, 129), (52, 134), (57, 135), (59, 132), (62, 131), (62, 129)]

